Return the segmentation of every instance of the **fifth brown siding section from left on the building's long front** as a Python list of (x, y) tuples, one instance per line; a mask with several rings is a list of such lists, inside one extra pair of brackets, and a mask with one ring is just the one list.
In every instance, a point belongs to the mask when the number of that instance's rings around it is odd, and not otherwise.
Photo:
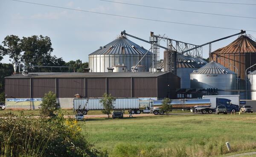
[(114, 97), (132, 97), (131, 78), (108, 78), (107, 87)]

